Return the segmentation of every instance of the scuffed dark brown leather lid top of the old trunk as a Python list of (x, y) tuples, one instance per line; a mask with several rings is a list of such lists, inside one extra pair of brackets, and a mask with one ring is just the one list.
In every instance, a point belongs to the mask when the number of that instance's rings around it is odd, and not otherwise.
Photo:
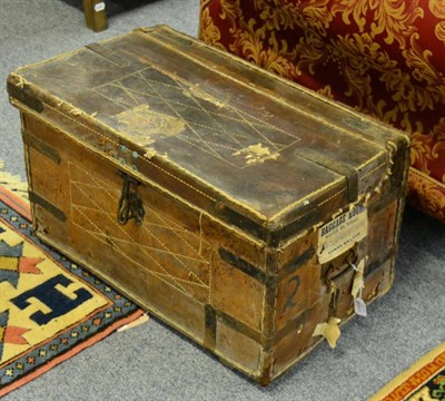
[[(402, 136), (164, 30), (87, 46), (19, 75), (43, 115), (65, 105), (65, 120), (83, 119), (73, 133), (80, 140), (97, 143), (100, 135), (81, 133), (96, 126), (121, 145), (112, 156), (128, 167), (151, 159), (263, 223), (289, 223), (305, 199), (317, 207), (337, 194), (347, 204), (383, 179), (386, 143)], [(121, 155), (129, 148), (132, 158)]]

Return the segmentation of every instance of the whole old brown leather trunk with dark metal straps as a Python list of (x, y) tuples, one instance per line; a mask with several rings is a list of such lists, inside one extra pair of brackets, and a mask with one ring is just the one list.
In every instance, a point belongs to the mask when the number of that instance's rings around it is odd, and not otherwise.
[(390, 287), (398, 131), (167, 27), (8, 91), (39, 237), (261, 384)]

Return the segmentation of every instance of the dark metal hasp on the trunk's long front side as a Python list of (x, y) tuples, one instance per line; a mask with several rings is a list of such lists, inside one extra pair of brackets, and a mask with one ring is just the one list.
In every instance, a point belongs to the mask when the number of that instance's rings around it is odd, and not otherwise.
[(117, 173), (123, 179), (122, 192), (118, 205), (118, 222), (125, 225), (134, 218), (137, 225), (142, 225), (146, 211), (144, 209), (142, 198), (135, 190), (135, 187), (140, 183), (121, 170), (118, 170)]

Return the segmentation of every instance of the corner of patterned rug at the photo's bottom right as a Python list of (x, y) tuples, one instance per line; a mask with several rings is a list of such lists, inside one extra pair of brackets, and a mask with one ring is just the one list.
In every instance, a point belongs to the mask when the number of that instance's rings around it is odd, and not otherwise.
[(385, 385), (369, 401), (444, 401), (445, 343)]

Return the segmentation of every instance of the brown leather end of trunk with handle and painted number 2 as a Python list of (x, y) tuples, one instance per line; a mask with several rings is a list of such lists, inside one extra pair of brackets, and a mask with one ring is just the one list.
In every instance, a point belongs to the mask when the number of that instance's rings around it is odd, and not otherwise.
[[(274, 375), (279, 375), (323, 339), (314, 336), (317, 325), (326, 324), (330, 317), (345, 322), (354, 315), (355, 297), (370, 303), (390, 288), (404, 204), (398, 189), (383, 196), (375, 194), (368, 199), (366, 235), (350, 243), (338, 256), (320, 260), (317, 255), (320, 228), (289, 242), (283, 250), (274, 320)], [(313, 251), (313, 256), (298, 264), (307, 250)], [(357, 266), (363, 268), (363, 274), (354, 268)], [(353, 295), (359, 276), (364, 286)]]

